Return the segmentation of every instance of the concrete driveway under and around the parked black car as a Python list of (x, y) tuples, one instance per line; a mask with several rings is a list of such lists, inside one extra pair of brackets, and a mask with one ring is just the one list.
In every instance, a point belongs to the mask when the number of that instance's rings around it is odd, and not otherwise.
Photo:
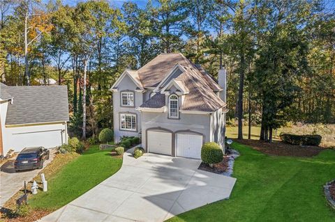
[[(54, 159), (55, 153), (55, 149), (50, 149), (50, 158), (44, 162), (44, 167)], [(20, 191), (24, 186), (24, 181), (29, 182), (33, 180), (42, 171), (36, 169), (34, 171), (15, 172), (14, 161), (15, 159), (9, 160), (0, 168), (0, 209), (7, 200), (17, 193), (17, 191)]]

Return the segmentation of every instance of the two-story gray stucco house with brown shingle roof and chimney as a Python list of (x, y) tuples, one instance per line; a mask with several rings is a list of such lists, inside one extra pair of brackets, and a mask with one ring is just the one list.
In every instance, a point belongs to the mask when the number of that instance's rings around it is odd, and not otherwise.
[(111, 88), (114, 141), (142, 136), (147, 152), (198, 159), (205, 142), (224, 149), (225, 70), (218, 83), (180, 53), (125, 70)]

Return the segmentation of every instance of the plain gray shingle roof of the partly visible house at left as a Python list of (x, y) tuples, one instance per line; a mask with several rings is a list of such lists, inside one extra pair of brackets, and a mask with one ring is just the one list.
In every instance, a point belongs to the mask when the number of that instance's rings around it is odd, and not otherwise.
[(13, 97), (6, 125), (68, 121), (67, 86), (1, 86)]

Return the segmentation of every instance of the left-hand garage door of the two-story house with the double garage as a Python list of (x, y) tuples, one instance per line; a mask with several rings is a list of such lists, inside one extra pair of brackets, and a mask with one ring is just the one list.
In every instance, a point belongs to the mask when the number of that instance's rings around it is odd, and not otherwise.
[(148, 131), (148, 150), (149, 152), (171, 155), (172, 134), (169, 132)]

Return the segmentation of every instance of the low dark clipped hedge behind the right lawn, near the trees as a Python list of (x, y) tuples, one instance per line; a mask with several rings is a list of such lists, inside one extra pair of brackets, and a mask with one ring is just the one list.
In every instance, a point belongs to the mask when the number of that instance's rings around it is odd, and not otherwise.
[(292, 145), (320, 145), (321, 139), (320, 135), (281, 134), (281, 140)]

